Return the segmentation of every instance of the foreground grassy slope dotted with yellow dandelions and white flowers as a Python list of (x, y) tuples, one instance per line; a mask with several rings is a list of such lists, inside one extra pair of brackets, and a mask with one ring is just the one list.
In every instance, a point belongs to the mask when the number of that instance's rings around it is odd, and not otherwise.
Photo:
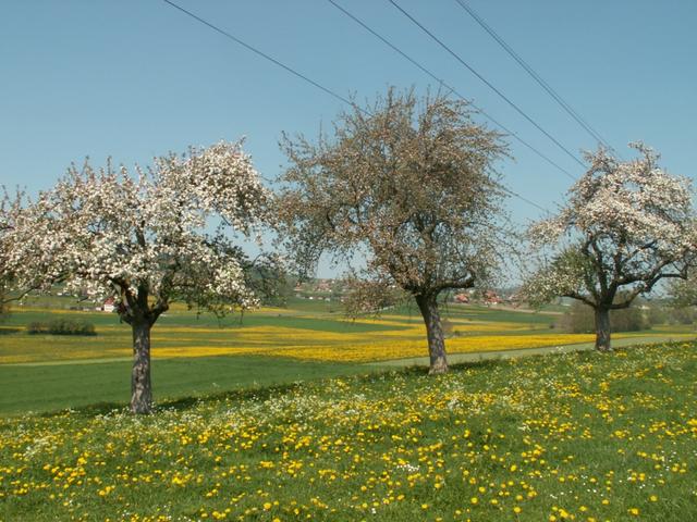
[(0, 421), (0, 520), (697, 519), (697, 347)]

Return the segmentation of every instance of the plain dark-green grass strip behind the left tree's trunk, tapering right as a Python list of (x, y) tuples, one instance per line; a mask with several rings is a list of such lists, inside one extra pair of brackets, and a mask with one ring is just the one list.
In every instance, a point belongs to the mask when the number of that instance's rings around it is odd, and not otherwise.
[[(362, 364), (288, 359), (269, 364), (268, 358), (255, 356), (175, 358), (152, 365), (152, 385), (157, 402), (167, 403), (221, 390), (368, 372)], [(0, 414), (118, 408), (131, 398), (130, 376), (130, 361), (0, 365)]]

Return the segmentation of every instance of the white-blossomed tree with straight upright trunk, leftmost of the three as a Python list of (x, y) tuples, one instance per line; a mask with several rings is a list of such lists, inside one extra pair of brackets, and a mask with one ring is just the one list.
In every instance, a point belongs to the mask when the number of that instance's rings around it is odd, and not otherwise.
[[(170, 303), (217, 313), (257, 303), (246, 258), (223, 232), (258, 232), (269, 197), (241, 144), (162, 157), (136, 175), (111, 164), (73, 165), (13, 216), (7, 241), (14, 284), (50, 290), (62, 282), (93, 298), (113, 297), (133, 331), (131, 409), (150, 412), (150, 330)], [(222, 225), (207, 233), (216, 216)]]

